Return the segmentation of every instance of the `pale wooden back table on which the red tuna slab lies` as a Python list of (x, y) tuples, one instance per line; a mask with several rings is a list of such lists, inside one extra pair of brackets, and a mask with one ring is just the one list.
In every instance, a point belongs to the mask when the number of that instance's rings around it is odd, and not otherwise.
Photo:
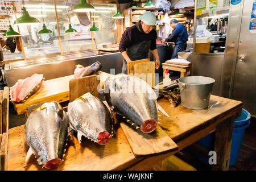
[[(106, 78), (109, 77), (109, 73), (100, 72), (101, 79), (100, 85), (103, 86)], [(65, 102), (69, 101), (69, 81), (74, 78), (74, 75), (55, 78), (52, 80), (44, 81), (41, 88), (27, 99), (24, 103), (15, 104), (15, 108), (18, 114), (26, 113), (28, 115), (27, 107), (42, 102)]]

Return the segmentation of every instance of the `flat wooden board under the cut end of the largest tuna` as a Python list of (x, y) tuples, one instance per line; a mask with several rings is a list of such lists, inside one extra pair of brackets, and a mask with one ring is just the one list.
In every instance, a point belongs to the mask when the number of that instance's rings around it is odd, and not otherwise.
[(146, 134), (139, 129), (132, 129), (127, 123), (121, 122), (120, 125), (137, 158), (177, 151), (176, 143), (159, 126)]

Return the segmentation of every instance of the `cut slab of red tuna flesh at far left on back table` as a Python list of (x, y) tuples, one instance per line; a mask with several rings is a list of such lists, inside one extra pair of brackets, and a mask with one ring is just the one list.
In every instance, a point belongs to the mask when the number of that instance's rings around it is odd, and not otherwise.
[(22, 80), (18, 80), (14, 86), (10, 88), (11, 101), (13, 103), (20, 103), (27, 100), (37, 92), (42, 85), (43, 74), (34, 74)]

